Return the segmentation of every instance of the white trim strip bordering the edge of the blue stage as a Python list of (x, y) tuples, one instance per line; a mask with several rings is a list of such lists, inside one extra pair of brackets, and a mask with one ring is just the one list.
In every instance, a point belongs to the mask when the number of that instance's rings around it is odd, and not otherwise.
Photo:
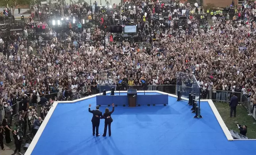
[[(115, 91), (115, 94), (119, 93), (119, 92), (120, 93), (127, 93), (127, 91)], [(106, 94), (109, 94), (109, 93), (111, 93), (111, 91), (106, 92)], [(144, 93), (144, 91), (137, 91), (137, 93)], [(164, 93), (164, 92), (161, 92), (161, 91), (145, 91), (145, 93), (159, 93), (159, 94), (169, 95), (171, 97), (177, 98), (176, 95)], [(31, 155), (31, 153), (33, 152), (41, 134), (43, 133), (43, 130), (45, 129), (45, 127), (46, 127), (50, 117), (52, 116), (52, 113), (54, 112), (56, 106), (58, 105), (58, 103), (75, 103), (75, 102), (86, 100), (86, 99), (89, 99), (89, 98), (93, 98), (93, 97), (96, 97), (97, 95), (102, 95), (102, 94), (103, 93), (99, 93), (99, 94), (87, 96), (87, 97), (80, 98), (78, 100), (73, 100), (73, 101), (56, 101), (56, 102), (54, 102), (52, 108), (50, 108), (48, 114), (46, 115), (45, 120), (43, 121), (42, 125), (40, 126), (39, 130), (37, 131), (37, 134), (35, 135), (31, 144), (29, 145), (29, 148), (27, 149), (25, 155)], [(188, 101), (188, 98), (181, 97), (181, 99)], [(229, 132), (229, 129), (227, 129), (227, 126), (225, 125), (223, 119), (221, 118), (221, 115), (219, 115), (219, 112), (218, 112), (217, 108), (215, 107), (215, 105), (213, 104), (212, 100), (201, 100), (201, 102), (208, 102), (208, 104), (211, 107), (211, 110), (213, 111), (217, 121), (219, 122), (219, 125), (221, 126), (221, 129), (223, 130), (225, 136), (227, 137), (227, 140), (233, 141), (234, 139), (231, 136), (231, 133)]]

